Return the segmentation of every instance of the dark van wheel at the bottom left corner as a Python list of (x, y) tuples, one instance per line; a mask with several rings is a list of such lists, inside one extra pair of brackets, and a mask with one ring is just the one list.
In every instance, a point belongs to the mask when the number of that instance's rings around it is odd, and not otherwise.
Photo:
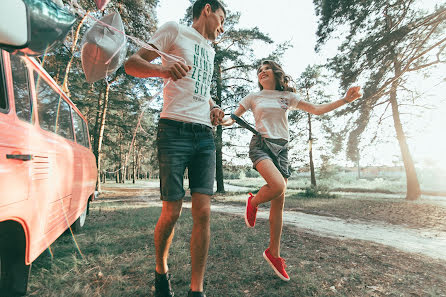
[(31, 265), (25, 265), (24, 255), (7, 253), (5, 250), (1, 250), (0, 296), (25, 295), (30, 270)]

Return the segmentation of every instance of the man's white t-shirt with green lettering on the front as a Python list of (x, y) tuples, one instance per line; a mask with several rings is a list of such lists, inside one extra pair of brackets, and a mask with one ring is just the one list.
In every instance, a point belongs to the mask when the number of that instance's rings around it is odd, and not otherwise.
[[(215, 51), (209, 41), (192, 27), (167, 22), (149, 43), (164, 53), (184, 58), (186, 65), (192, 66), (187, 76), (165, 85), (160, 117), (212, 127), (209, 99)], [(168, 61), (162, 58), (162, 63)]]

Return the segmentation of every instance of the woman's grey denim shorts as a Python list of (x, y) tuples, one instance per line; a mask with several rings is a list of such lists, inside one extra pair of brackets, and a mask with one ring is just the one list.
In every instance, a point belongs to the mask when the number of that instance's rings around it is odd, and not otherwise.
[(249, 158), (256, 170), (260, 161), (269, 159), (284, 178), (289, 178), (291, 175), (288, 169), (288, 141), (285, 139), (270, 139), (253, 135), (249, 143)]

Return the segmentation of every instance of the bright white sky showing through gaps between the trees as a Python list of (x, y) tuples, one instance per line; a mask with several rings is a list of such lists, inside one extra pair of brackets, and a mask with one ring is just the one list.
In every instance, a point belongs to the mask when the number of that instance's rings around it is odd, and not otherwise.
[[(424, 8), (433, 7), (438, 0), (423, 0)], [(184, 17), (188, 0), (160, 0), (157, 17), (160, 24), (166, 21), (179, 21)], [(271, 3), (274, 3), (272, 5)], [(299, 77), (307, 65), (322, 64), (327, 57), (336, 53), (336, 40), (328, 42), (319, 53), (315, 53), (317, 17), (312, 0), (225, 0), (226, 7), (231, 11), (241, 12), (239, 27), (259, 27), (260, 31), (269, 34), (276, 42), (291, 41), (293, 48), (289, 49), (282, 59), (283, 68), (293, 78)], [(263, 56), (274, 49), (264, 46), (256, 49), (258, 56)], [(411, 118), (411, 133), (408, 133), (409, 148), (413, 159), (420, 166), (434, 166), (446, 172), (446, 67), (437, 70), (432, 78), (414, 80), (417, 89), (424, 96), (432, 98), (432, 102), (441, 102), (433, 110), (421, 110)], [(442, 82), (443, 81), (443, 82)], [(341, 94), (339, 94), (340, 96)], [(336, 98), (337, 99), (337, 98)], [(390, 120), (391, 123), (391, 120)], [(400, 156), (399, 146), (394, 138), (394, 130), (388, 130), (392, 141), (380, 144), (370, 149), (369, 157), (364, 165), (391, 165)], [(375, 152), (378, 152), (375, 153)], [(430, 165), (429, 165), (430, 164)], [(346, 164), (347, 165), (347, 164)]]

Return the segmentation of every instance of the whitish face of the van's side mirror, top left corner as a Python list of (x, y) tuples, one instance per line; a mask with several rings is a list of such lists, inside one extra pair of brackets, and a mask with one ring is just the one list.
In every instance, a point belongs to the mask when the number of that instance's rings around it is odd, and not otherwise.
[(23, 0), (2, 1), (0, 6), (0, 47), (27, 47), (31, 33), (27, 6)]

